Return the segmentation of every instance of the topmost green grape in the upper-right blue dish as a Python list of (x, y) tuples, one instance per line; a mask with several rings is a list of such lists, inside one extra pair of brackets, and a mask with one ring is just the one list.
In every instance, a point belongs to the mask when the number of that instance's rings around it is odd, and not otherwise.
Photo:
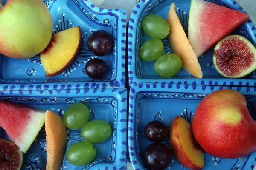
[(170, 31), (170, 26), (166, 19), (159, 15), (148, 15), (142, 21), (142, 28), (151, 38), (159, 40), (165, 38)]

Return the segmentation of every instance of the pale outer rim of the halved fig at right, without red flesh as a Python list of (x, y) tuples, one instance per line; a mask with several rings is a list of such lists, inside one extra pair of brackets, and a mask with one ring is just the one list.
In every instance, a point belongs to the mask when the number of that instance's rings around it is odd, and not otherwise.
[[(254, 58), (255, 58), (255, 61), (256, 61), (256, 48), (254, 47), (254, 45), (245, 37), (241, 36), (241, 35), (229, 35), (227, 37), (224, 37), (222, 40), (220, 40), (218, 42), (218, 44), (215, 46), (214, 48), (214, 51), (218, 50), (218, 48), (220, 48), (220, 45), (222, 42), (224, 42), (225, 40), (227, 40), (228, 38), (230, 37), (238, 37), (240, 38), (242, 41), (246, 42), (248, 47), (253, 51), (253, 54), (254, 54)], [(215, 54), (215, 53), (214, 53)], [(212, 57), (212, 62), (213, 62), (213, 65), (216, 69), (216, 71), (218, 71), (219, 74), (221, 74), (221, 76), (223, 77), (227, 77), (227, 78), (241, 78), (241, 77), (244, 77), (248, 74), (250, 74), (251, 72), (253, 72), (255, 69), (256, 69), (256, 62), (254, 62), (254, 64), (249, 68), (247, 69), (246, 71), (244, 71), (242, 74), (239, 74), (237, 76), (227, 76), (225, 74), (223, 74), (217, 67), (217, 64), (216, 64), (216, 57), (215, 55), (213, 54), (213, 57)]]

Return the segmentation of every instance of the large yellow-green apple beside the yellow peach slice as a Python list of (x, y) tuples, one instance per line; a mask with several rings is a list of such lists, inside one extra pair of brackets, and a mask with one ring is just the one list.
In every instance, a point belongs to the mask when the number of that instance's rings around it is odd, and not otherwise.
[(42, 0), (7, 0), (0, 9), (0, 53), (28, 59), (52, 38), (52, 17)]

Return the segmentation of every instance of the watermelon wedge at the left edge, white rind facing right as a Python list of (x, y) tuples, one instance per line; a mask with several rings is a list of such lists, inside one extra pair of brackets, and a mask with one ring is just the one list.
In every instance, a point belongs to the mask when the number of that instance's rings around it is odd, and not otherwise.
[(44, 125), (45, 111), (0, 101), (0, 127), (23, 153), (29, 149)]

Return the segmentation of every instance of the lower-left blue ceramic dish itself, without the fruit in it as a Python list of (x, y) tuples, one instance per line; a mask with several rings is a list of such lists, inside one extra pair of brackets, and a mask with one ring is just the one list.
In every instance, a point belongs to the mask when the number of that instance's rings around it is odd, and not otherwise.
[[(13, 91), (1, 97), (2, 100), (31, 105), (44, 110), (51, 110), (61, 116), (73, 103), (84, 103), (90, 109), (91, 120), (107, 121), (112, 129), (112, 136), (105, 142), (94, 144), (96, 157), (84, 167), (76, 167), (64, 158), (62, 170), (126, 170), (126, 102), (127, 90), (123, 88), (107, 89), (72, 89), (53, 91), (52, 94), (29, 91)], [(67, 149), (74, 143), (84, 140), (81, 130), (67, 130)], [(6, 132), (0, 127), (0, 138), (9, 139)], [(38, 134), (35, 142), (24, 154), (22, 170), (45, 170), (46, 167), (46, 134), (44, 127)]]

